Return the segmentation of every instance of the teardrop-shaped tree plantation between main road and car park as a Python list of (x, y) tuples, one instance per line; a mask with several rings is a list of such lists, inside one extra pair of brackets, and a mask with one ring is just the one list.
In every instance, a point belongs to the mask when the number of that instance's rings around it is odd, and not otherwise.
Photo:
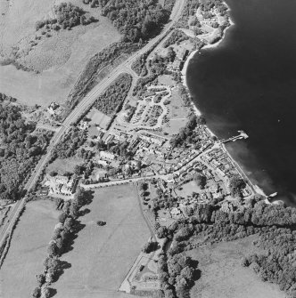
[(133, 77), (121, 74), (95, 101), (95, 108), (106, 115), (111, 116), (121, 108), (123, 101), (132, 85)]

